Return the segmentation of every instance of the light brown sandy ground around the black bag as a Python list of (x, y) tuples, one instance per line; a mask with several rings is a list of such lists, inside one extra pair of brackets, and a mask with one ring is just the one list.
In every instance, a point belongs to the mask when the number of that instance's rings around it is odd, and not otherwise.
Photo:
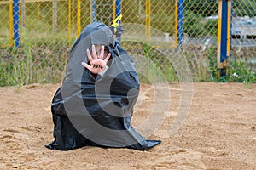
[[(193, 83), (186, 122), (170, 134), (181, 101), (171, 83), (172, 104), (146, 151), (84, 147), (49, 150), (50, 104), (59, 84), (0, 88), (0, 169), (256, 169), (256, 84)], [(142, 85), (134, 127), (152, 114), (154, 88)], [(152, 126), (154, 125), (154, 122)]]

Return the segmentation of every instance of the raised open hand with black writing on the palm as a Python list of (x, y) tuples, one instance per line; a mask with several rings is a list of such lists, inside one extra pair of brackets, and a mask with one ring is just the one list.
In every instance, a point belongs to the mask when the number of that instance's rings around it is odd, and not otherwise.
[(100, 72), (105, 71), (108, 59), (110, 58), (111, 54), (104, 53), (104, 46), (102, 45), (100, 53), (96, 53), (96, 47), (95, 45), (92, 45), (92, 57), (89, 49), (87, 49), (86, 52), (90, 61), (90, 65), (85, 62), (82, 62), (82, 65), (94, 74), (99, 74)]

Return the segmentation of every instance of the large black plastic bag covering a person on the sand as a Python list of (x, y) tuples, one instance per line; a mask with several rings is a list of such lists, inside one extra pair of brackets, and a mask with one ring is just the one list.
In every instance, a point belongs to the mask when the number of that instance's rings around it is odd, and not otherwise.
[[(111, 53), (104, 75), (93, 75), (81, 65), (86, 49), (102, 44)], [(85, 60), (84, 60), (85, 59)], [(67, 60), (66, 75), (52, 100), (55, 140), (49, 149), (71, 150), (86, 145), (148, 150), (159, 140), (148, 140), (131, 126), (140, 84), (131, 57), (101, 22), (86, 26)]]

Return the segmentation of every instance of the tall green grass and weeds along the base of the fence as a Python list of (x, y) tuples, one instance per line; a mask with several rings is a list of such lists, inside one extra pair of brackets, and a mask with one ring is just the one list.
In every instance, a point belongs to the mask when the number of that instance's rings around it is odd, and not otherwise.
[[(20, 48), (8, 47), (9, 37), (0, 37), (7, 44), (0, 48), (0, 86), (61, 82), (75, 32), (69, 38), (65, 30), (53, 30), (50, 25), (41, 21), (35, 23), (32, 19), (27, 22), (38, 29), (20, 30)], [(0, 31), (7, 33), (6, 29)], [(149, 65), (141, 65), (148, 69), (145, 75), (139, 73), (141, 82), (178, 81), (172, 61), (156, 48), (140, 42), (121, 42), (121, 45), (129, 54), (139, 54), (151, 61)], [(194, 82), (256, 82), (255, 70), (241, 60), (242, 57), (255, 56), (255, 48), (243, 49), (241, 56), (232, 54), (236, 60), (232, 60), (226, 77), (217, 77), (216, 48), (202, 52), (195, 45), (183, 46), (178, 53), (187, 59)]]

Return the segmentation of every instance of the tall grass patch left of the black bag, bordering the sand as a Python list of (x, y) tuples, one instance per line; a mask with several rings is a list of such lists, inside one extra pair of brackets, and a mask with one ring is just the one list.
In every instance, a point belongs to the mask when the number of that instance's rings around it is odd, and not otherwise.
[[(53, 41), (50, 41), (50, 43)], [(25, 45), (0, 49), (0, 86), (61, 82), (68, 50)]]

